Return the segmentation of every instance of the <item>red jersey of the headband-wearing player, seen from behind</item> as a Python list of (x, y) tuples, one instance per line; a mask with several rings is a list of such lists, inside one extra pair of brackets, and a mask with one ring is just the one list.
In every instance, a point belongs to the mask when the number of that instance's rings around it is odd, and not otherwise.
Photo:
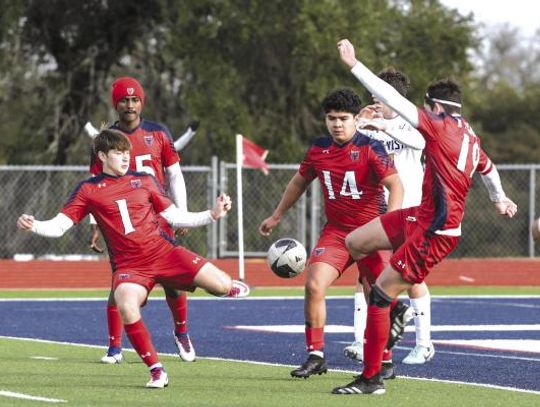
[(493, 164), (461, 116), (419, 108), (418, 122), (426, 139), (426, 170), (417, 220), (432, 232), (455, 229), (459, 235), (472, 176), (475, 171), (488, 174)]

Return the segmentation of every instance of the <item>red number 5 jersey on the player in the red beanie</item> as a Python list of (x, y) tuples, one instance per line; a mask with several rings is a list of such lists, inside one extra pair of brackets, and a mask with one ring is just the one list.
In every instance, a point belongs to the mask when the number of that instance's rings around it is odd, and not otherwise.
[[(180, 161), (169, 130), (161, 124), (145, 119), (142, 119), (139, 126), (131, 132), (121, 130), (118, 123), (112, 125), (111, 129), (121, 131), (131, 142), (129, 169), (155, 176), (161, 187), (167, 190), (164, 168)], [(102, 171), (103, 163), (93, 157), (90, 173), (97, 175)]]

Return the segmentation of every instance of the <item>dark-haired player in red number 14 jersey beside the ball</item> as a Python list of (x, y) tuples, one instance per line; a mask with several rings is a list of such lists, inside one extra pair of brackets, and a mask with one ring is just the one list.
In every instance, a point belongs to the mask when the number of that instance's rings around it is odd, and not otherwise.
[[(401, 181), (384, 146), (356, 130), (362, 108), (360, 98), (350, 89), (338, 89), (326, 96), (322, 107), (330, 136), (317, 139), (308, 149), (274, 213), (259, 226), (261, 234), (269, 235), (309, 184), (315, 178), (319, 180), (327, 223), (311, 252), (307, 269), (304, 316), (309, 355), (302, 366), (291, 372), (293, 377), (304, 378), (327, 371), (326, 290), (354, 262), (345, 246), (345, 237), (387, 208), (400, 208), (403, 199)], [(389, 190), (388, 206), (383, 185)], [(358, 267), (382, 270), (382, 258), (375, 253)]]

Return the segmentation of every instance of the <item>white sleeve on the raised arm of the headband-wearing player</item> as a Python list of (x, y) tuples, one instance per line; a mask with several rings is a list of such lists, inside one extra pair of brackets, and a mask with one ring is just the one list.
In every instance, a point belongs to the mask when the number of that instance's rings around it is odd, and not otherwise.
[(352, 67), (351, 72), (382, 103), (390, 106), (392, 110), (399, 113), (413, 127), (418, 128), (419, 121), (416, 106), (401, 96), (392, 85), (383, 81), (360, 61)]

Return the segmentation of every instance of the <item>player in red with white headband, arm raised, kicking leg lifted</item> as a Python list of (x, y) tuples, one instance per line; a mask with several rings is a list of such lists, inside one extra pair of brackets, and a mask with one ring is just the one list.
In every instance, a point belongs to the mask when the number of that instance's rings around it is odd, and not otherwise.
[(358, 80), (417, 128), (426, 140), (420, 205), (377, 217), (346, 238), (354, 259), (381, 249), (393, 249), (394, 254), (369, 297), (363, 372), (332, 393), (383, 394), (382, 355), (395, 337), (395, 333), (389, 334), (389, 305), (402, 291), (424, 281), (430, 270), (456, 247), (474, 172), (482, 175), (499, 214), (513, 217), (517, 206), (506, 197), (495, 166), (460, 114), (461, 90), (455, 82), (447, 79), (430, 85), (424, 108), (417, 108), (359, 62), (349, 40), (339, 41), (338, 50), (341, 60)]

